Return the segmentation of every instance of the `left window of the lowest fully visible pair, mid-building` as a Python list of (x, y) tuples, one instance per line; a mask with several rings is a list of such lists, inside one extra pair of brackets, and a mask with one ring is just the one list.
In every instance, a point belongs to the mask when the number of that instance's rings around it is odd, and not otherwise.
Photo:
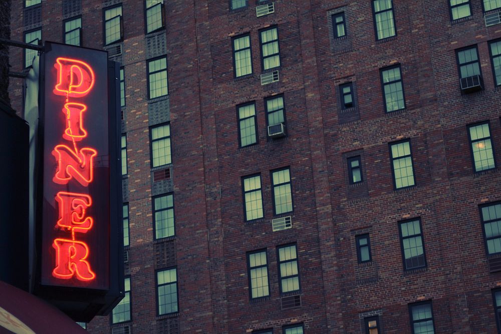
[(270, 295), (266, 249), (247, 254), (250, 298)]

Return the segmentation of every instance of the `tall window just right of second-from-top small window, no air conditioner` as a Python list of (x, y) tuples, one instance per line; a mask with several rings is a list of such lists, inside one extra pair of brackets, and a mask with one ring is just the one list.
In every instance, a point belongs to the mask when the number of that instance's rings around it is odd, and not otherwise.
[(381, 70), (381, 81), (383, 82), (384, 107), (386, 112), (405, 109), (400, 65)]

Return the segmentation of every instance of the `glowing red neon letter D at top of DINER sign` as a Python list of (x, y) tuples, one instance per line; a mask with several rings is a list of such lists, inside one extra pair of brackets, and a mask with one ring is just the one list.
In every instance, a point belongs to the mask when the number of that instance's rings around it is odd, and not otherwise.
[(58, 83), (54, 87), (56, 95), (84, 97), (94, 86), (94, 71), (87, 63), (59, 57), (54, 67), (58, 70)]

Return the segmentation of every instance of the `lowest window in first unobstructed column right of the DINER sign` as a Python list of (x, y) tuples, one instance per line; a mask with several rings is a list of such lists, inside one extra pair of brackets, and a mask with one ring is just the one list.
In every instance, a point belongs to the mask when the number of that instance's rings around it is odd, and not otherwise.
[(158, 315), (179, 311), (176, 268), (157, 271)]

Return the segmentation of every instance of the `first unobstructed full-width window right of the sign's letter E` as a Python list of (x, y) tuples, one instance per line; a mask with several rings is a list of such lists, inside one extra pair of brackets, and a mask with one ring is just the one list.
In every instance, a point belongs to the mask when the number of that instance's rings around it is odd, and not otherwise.
[(174, 235), (174, 196), (172, 194), (153, 197), (153, 224), (155, 239)]

